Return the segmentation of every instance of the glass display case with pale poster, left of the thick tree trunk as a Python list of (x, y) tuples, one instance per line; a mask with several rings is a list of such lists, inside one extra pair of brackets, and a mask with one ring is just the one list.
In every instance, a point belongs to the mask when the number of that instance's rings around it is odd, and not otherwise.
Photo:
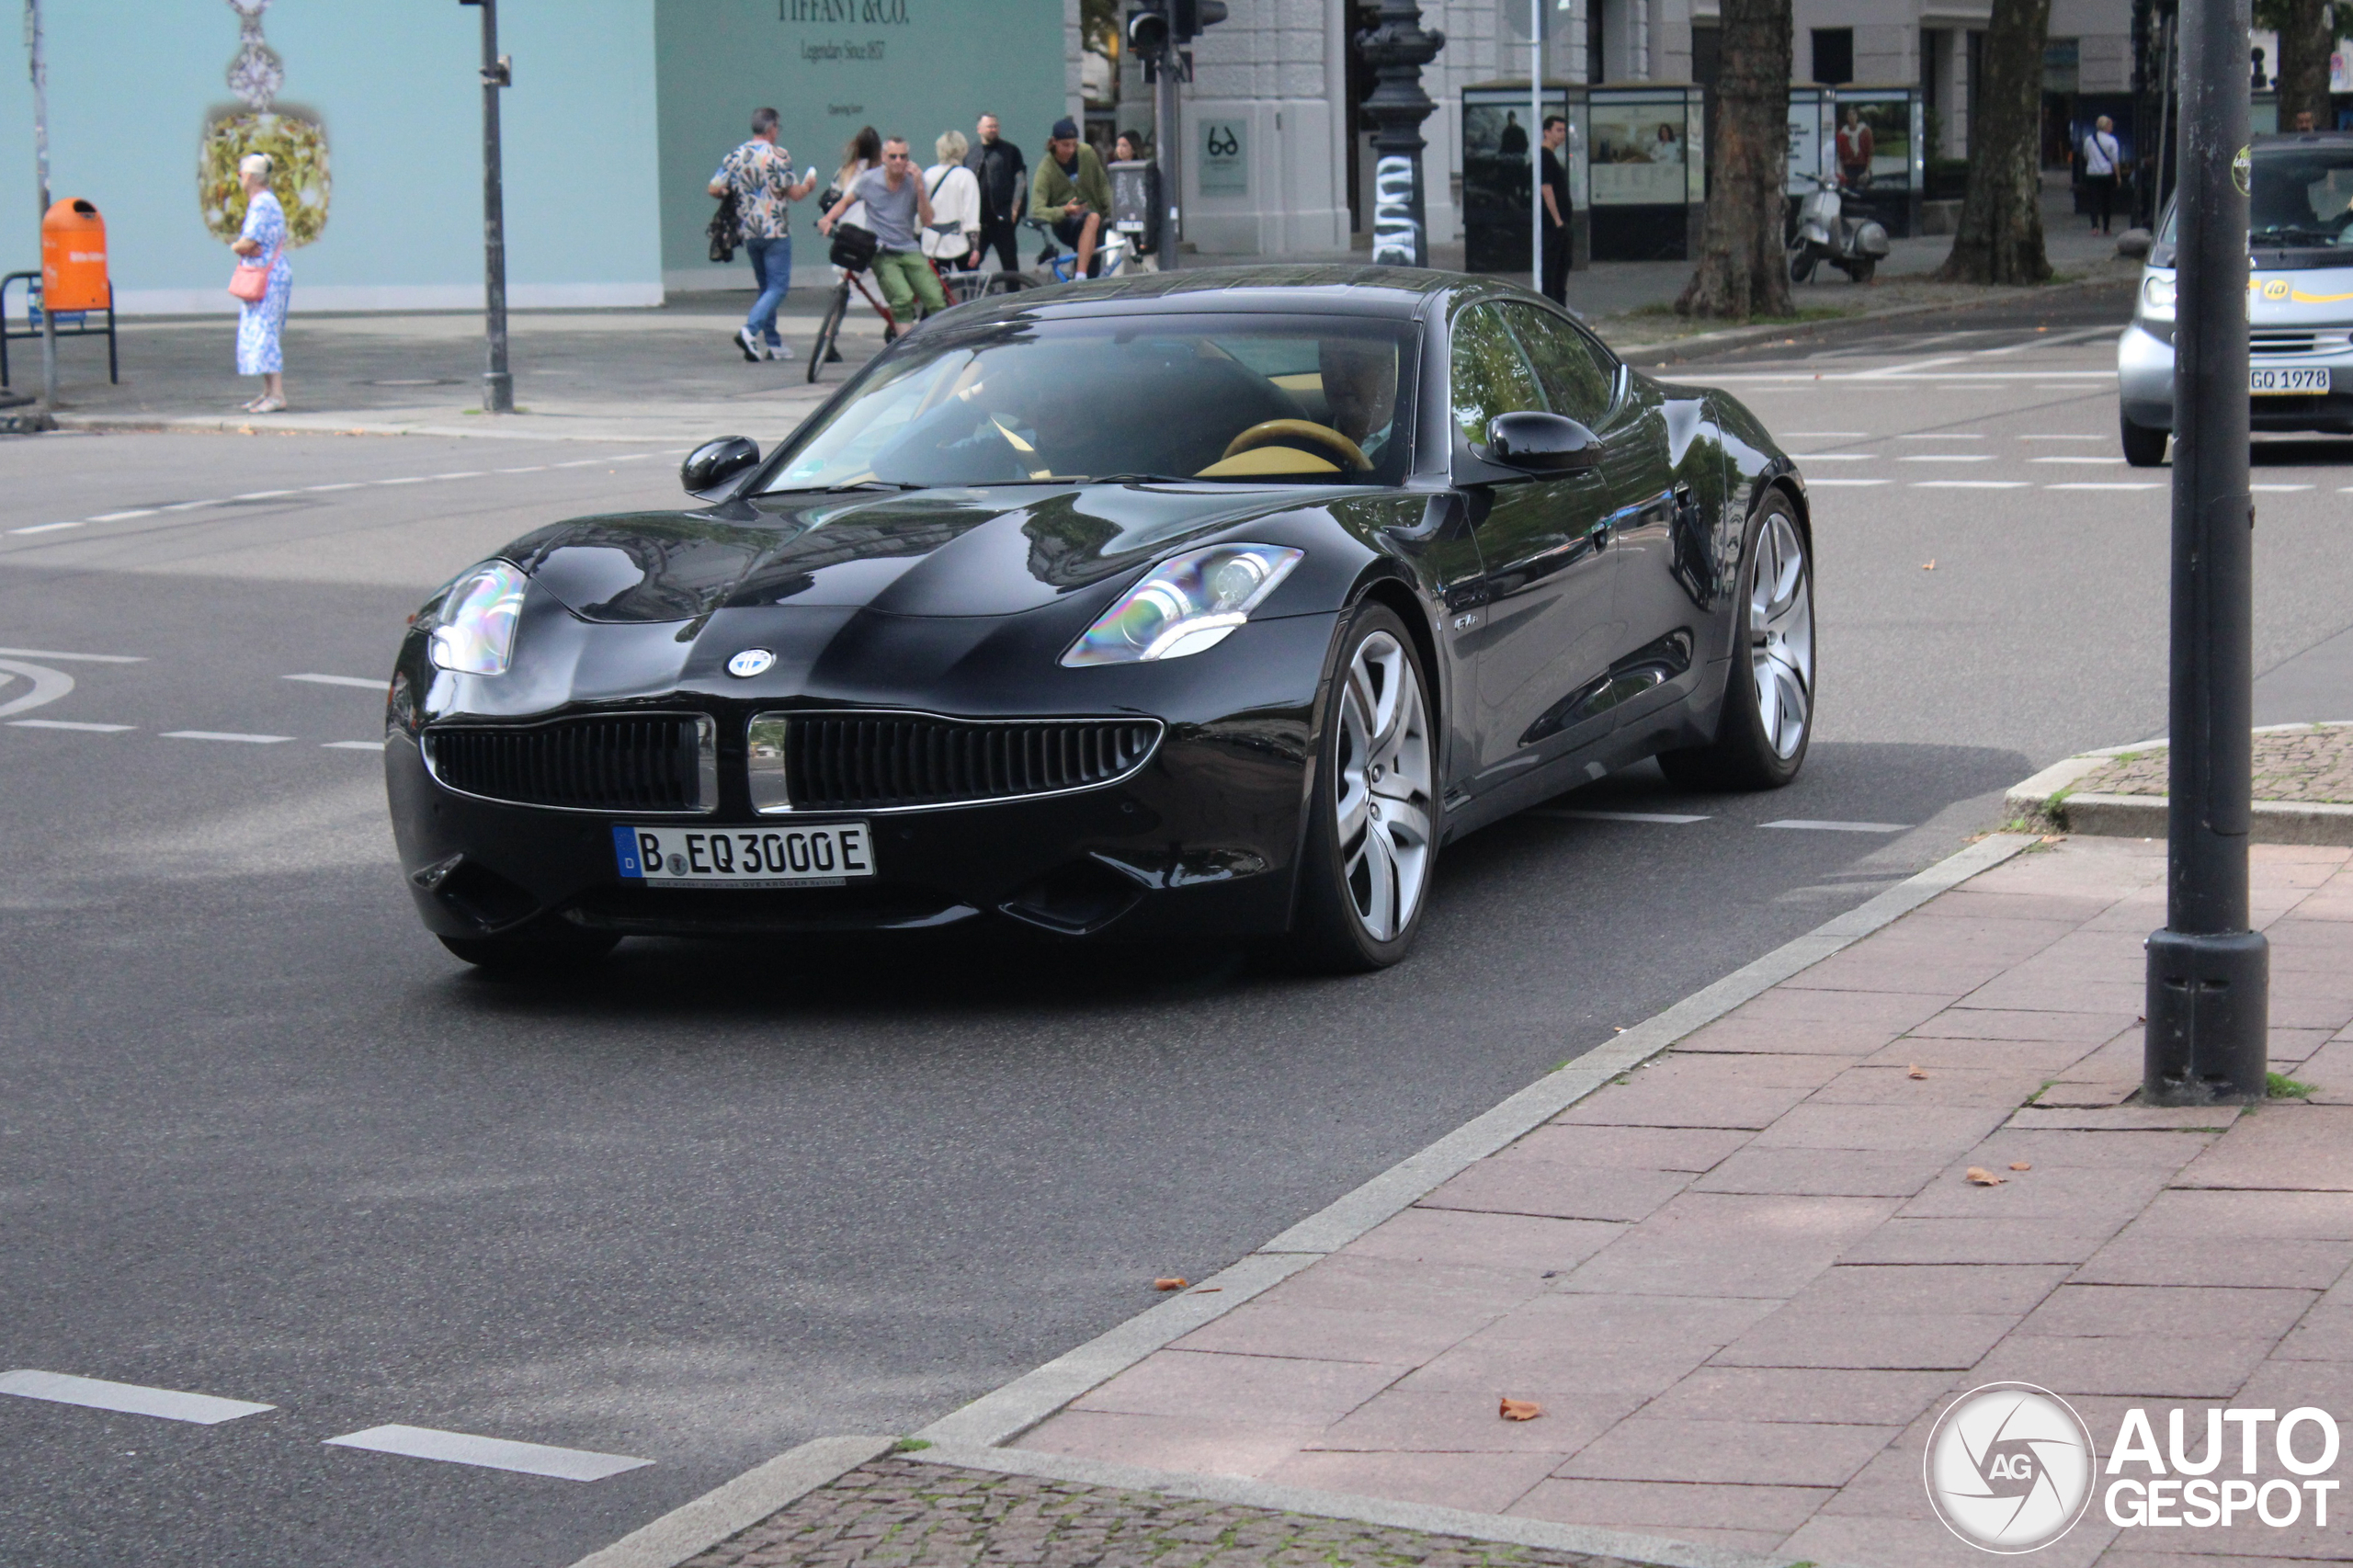
[(1701, 89), (1680, 82), (1591, 87), (1586, 127), (1593, 257), (1697, 257), (1708, 198)]

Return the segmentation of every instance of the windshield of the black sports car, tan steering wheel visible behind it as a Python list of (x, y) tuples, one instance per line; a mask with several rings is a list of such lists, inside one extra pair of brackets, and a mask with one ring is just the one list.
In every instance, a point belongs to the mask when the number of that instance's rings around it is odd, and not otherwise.
[(1412, 323), (1096, 315), (922, 334), (805, 428), (765, 492), (1226, 480), (1395, 485)]

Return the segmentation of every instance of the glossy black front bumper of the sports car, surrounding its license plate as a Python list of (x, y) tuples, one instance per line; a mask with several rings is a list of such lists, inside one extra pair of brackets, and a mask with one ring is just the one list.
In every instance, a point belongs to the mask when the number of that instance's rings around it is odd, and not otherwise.
[[(1254, 633), (1249, 652), (1266, 659), (1252, 659), (1252, 678), (1228, 683), (1240, 687), (1228, 692), (1231, 711), (1176, 704), (1160, 716), (1160, 744), (1136, 772), (1040, 798), (760, 815), (739, 784), (748, 709), (722, 706), (718, 768), (729, 782), (718, 810), (692, 819), (553, 810), (445, 786), (416, 737), (395, 727), (386, 786), (409, 895), (426, 928), (445, 937), (496, 935), (544, 918), (685, 937), (913, 930), (974, 918), (1118, 939), (1278, 935), (1289, 928), (1320, 650), (1332, 617), (1245, 631)], [(1207, 683), (1186, 685), (1198, 692)], [(621, 876), (612, 831), (847, 819), (866, 822), (875, 876), (840, 888), (647, 888)]]

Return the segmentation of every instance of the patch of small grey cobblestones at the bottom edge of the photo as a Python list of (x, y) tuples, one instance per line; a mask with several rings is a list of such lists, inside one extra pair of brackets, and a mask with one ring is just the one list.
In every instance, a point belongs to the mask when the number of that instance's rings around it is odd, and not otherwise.
[(1631, 1568), (1341, 1519), (885, 1457), (685, 1568)]

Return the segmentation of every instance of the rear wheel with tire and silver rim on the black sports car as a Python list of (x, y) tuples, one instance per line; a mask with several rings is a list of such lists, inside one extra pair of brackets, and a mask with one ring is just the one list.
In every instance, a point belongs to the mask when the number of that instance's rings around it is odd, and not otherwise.
[(1814, 739), (1814, 558), (1779, 490), (1748, 525), (1739, 631), (1715, 739), (1659, 753), (1685, 789), (1781, 789)]

